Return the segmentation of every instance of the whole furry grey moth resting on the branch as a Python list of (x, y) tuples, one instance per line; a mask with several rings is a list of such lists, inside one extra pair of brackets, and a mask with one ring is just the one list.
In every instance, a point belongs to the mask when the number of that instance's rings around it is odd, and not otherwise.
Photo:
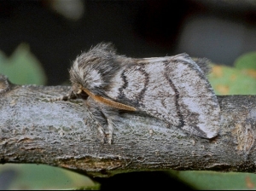
[(220, 109), (207, 72), (207, 59), (193, 61), (187, 54), (129, 58), (118, 55), (112, 43), (99, 43), (73, 61), (72, 92), (62, 98), (82, 97), (101, 141), (109, 144), (121, 110), (212, 138), (218, 134)]

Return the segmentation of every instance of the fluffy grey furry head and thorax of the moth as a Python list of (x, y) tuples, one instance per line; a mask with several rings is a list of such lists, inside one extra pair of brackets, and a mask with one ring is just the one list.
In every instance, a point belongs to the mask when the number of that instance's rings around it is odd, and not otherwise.
[(95, 95), (102, 95), (113, 73), (119, 69), (119, 65), (115, 64), (115, 57), (111, 43), (99, 43), (79, 55), (69, 71), (73, 92), (81, 93), (82, 87)]

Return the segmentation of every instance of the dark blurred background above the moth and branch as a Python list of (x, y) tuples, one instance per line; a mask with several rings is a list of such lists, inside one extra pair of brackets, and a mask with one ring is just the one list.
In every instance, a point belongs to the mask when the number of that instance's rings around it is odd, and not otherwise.
[(72, 2), (82, 10), (76, 18), (60, 14), (56, 0), (0, 1), (0, 49), (10, 55), (28, 43), (50, 85), (67, 81), (75, 57), (102, 41), (131, 57), (186, 52), (230, 66), (256, 49), (255, 1)]

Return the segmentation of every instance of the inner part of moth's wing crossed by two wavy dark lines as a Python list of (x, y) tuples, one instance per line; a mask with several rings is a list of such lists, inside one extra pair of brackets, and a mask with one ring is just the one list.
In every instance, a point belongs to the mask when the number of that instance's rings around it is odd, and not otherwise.
[(177, 92), (163, 75), (165, 65), (145, 61), (125, 67), (112, 79), (110, 98), (148, 113), (176, 126), (181, 124), (177, 110)]

